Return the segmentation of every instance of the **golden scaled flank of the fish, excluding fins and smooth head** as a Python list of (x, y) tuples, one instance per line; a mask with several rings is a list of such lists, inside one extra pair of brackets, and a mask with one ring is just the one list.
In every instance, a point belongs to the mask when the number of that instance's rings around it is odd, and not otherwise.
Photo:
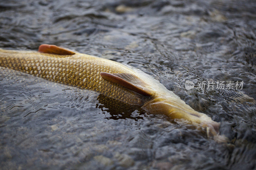
[(100, 76), (100, 72), (131, 73), (131, 69), (123, 64), (91, 55), (53, 55), (0, 49), (0, 66), (100, 92), (132, 105), (142, 105), (149, 99)]

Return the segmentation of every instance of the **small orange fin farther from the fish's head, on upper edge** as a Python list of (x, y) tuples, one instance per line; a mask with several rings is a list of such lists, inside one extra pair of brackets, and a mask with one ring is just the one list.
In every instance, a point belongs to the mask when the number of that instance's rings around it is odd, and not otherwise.
[(76, 54), (73, 51), (70, 51), (65, 48), (58, 47), (56, 45), (50, 45), (50, 44), (42, 44), (38, 48), (38, 52), (41, 53), (48, 53), (48, 54), (58, 54), (58, 55), (73, 55)]

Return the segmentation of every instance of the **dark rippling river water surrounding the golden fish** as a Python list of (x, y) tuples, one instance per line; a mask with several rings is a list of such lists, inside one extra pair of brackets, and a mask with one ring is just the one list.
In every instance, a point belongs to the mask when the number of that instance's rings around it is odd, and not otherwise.
[(55, 44), (139, 68), (221, 122), (230, 142), (1, 67), (0, 169), (255, 169), (255, 9), (253, 0), (1, 0), (0, 48)]

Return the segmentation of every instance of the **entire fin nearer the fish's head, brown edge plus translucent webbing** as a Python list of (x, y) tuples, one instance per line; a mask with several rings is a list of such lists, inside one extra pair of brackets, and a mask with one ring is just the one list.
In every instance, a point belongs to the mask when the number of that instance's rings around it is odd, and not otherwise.
[[(139, 94), (142, 94), (144, 96), (151, 96), (152, 92), (150, 92), (148, 89), (139, 87), (138, 85), (143, 85), (143, 81), (140, 80), (137, 76), (129, 73), (107, 73), (107, 72), (101, 72), (100, 76), (104, 80), (111, 81), (113, 83), (116, 83), (118, 85), (121, 85), (123, 87), (126, 87), (127, 89), (130, 89), (134, 92), (137, 92)], [(125, 80), (126, 79), (126, 80)], [(135, 83), (137, 82), (137, 83)], [(145, 83), (144, 83), (145, 85)]]

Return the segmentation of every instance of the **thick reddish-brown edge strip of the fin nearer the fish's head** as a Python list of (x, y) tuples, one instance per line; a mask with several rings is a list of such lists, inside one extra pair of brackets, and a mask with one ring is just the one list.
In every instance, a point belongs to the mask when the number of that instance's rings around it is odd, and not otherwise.
[[(125, 74), (125, 73), (124, 73)], [(121, 85), (123, 87), (126, 87), (127, 89), (130, 89), (134, 92), (137, 92), (139, 94), (142, 94), (144, 96), (151, 96), (152, 92), (150, 92), (147, 89), (143, 89), (141, 87), (136, 86), (135, 84), (132, 84), (128, 81), (126, 81), (124, 78), (118, 77), (114, 74), (111, 73), (107, 73), (107, 72), (101, 72), (100, 76), (104, 79), (104, 80), (108, 80), (111, 81), (113, 83), (116, 83), (118, 85)]]

